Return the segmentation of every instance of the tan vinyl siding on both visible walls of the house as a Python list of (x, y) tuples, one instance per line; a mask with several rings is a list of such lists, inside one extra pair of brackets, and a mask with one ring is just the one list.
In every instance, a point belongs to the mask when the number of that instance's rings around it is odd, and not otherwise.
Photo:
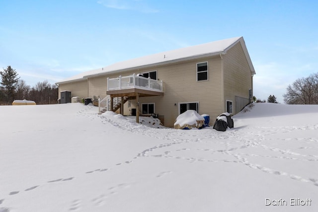
[[(104, 98), (107, 90), (107, 77), (116, 78), (119, 75), (127, 76), (133, 73), (157, 71), (158, 79), (163, 82), (164, 95), (140, 97), (140, 113), (142, 103), (155, 103), (155, 113), (164, 117), (165, 126), (173, 127), (174, 121), (179, 115), (178, 103), (199, 102), (199, 113), (209, 114), (210, 125), (212, 125), (213, 120), (226, 111), (226, 100), (233, 101), (233, 112), (237, 113), (238, 111), (235, 111), (235, 96), (248, 98), (248, 89), (252, 88), (251, 72), (240, 43), (229, 49), (227, 54), (223, 55), (222, 61), (223, 66), (221, 57), (214, 56), (121, 73), (105, 74), (89, 77), (88, 81), (85, 79), (61, 84), (60, 90), (70, 90), (72, 91), (72, 96), (90, 98), (99, 96)], [(197, 63), (203, 62), (208, 62), (208, 80), (197, 81)], [(224, 74), (223, 77), (222, 72)], [(223, 90), (222, 84), (224, 85)], [(136, 100), (131, 100), (130, 107), (128, 102), (126, 102), (124, 115), (130, 115), (131, 109), (135, 108), (136, 105)]]

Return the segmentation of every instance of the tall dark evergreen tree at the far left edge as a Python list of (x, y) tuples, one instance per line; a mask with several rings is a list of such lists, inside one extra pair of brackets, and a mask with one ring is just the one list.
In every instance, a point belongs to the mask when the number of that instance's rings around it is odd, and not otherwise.
[(18, 73), (8, 66), (3, 71), (0, 71), (1, 75), (1, 85), (3, 85), (5, 91), (5, 99), (6, 103), (10, 103), (14, 100), (15, 88), (18, 83), (20, 77), (18, 77)]

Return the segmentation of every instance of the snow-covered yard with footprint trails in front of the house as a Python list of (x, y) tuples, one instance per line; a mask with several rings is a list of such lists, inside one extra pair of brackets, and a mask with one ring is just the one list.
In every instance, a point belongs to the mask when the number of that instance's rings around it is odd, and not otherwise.
[(318, 105), (233, 118), (175, 130), (80, 103), (0, 106), (0, 212), (317, 211)]

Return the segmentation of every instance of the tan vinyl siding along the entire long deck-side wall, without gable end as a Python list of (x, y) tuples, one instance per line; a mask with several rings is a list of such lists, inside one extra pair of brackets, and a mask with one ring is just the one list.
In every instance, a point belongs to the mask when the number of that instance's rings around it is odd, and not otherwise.
[[(208, 80), (197, 81), (197, 63), (208, 62)], [(145, 71), (157, 71), (157, 78), (163, 82), (163, 96), (140, 97), (139, 111), (141, 113), (142, 103), (155, 103), (155, 113), (163, 116), (164, 125), (173, 127), (176, 117), (179, 115), (179, 105), (181, 102), (199, 102), (199, 113), (209, 114), (210, 120), (214, 120), (222, 110), (222, 90), (221, 90), (221, 58), (220, 56), (190, 60), (163, 66), (154, 66), (147, 69), (136, 69), (122, 73), (112, 73), (88, 78), (84, 82), (65, 83), (61, 85), (63, 90), (75, 90), (80, 88), (84, 97), (93, 96), (104, 98), (107, 90), (107, 77), (116, 78), (119, 75), (127, 76), (133, 73)], [(80, 84), (80, 86), (79, 86)], [(88, 93), (88, 94), (87, 94)], [(80, 97), (83, 94), (79, 95)], [(177, 104), (176, 106), (174, 104)], [(124, 115), (130, 115), (131, 109), (137, 105), (136, 100), (131, 100), (124, 104)], [(97, 108), (96, 108), (97, 110)], [(119, 112), (119, 110), (117, 111)], [(210, 123), (211, 124), (211, 123)]]

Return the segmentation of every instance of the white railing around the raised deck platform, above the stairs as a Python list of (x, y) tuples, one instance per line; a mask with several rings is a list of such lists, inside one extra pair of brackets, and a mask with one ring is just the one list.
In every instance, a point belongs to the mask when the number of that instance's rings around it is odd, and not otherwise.
[(162, 92), (162, 81), (137, 76), (119, 76), (118, 78), (107, 78), (107, 90), (121, 90), (128, 88), (141, 88), (144, 90), (154, 90)]

